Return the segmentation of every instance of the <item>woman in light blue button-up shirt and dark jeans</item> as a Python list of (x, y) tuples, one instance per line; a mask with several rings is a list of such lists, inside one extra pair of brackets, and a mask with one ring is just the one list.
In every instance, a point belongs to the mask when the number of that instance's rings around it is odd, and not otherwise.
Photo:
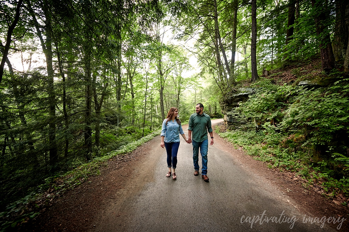
[(176, 166), (177, 166), (177, 153), (179, 147), (179, 134), (182, 135), (185, 142), (187, 138), (185, 137), (184, 131), (180, 124), (180, 120), (177, 118), (178, 109), (172, 107), (167, 114), (167, 118), (162, 122), (161, 130), (161, 144), (162, 148), (166, 147), (167, 153), (167, 167), (169, 172), (166, 174), (167, 177), (171, 176), (172, 167), (172, 178), (176, 179)]

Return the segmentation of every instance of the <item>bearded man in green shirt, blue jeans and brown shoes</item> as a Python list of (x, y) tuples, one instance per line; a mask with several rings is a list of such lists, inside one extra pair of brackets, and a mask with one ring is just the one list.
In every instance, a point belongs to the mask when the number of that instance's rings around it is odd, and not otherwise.
[[(207, 177), (207, 151), (208, 138), (207, 131), (210, 133), (211, 145), (213, 145), (213, 133), (211, 127), (210, 116), (203, 112), (203, 105), (201, 103), (195, 106), (196, 113), (190, 115), (188, 126), (188, 141), (193, 142), (193, 162), (194, 162), (194, 176), (199, 175), (199, 148), (202, 158), (201, 177), (208, 182)], [(193, 133), (193, 139), (192, 139)]]

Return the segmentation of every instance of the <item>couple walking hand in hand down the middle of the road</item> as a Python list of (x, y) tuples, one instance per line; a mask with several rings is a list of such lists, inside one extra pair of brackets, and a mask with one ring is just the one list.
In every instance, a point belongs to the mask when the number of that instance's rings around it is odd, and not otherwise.
[[(207, 151), (208, 151), (208, 138), (207, 131), (211, 137), (211, 145), (213, 144), (213, 133), (211, 127), (210, 116), (203, 112), (203, 105), (201, 103), (195, 106), (196, 113), (190, 115), (188, 126), (188, 139), (185, 137), (180, 120), (177, 118), (178, 109), (172, 107), (167, 114), (167, 118), (162, 123), (161, 130), (161, 144), (162, 148), (166, 148), (167, 153), (167, 167), (169, 172), (167, 177), (171, 176), (176, 179), (176, 166), (177, 166), (177, 152), (179, 147), (179, 134), (184, 138), (185, 142), (193, 144), (193, 162), (194, 162), (194, 175), (199, 175), (199, 148), (202, 158), (201, 177), (204, 181), (208, 182), (207, 177)], [(172, 172), (171, 172), (172, 168)]]

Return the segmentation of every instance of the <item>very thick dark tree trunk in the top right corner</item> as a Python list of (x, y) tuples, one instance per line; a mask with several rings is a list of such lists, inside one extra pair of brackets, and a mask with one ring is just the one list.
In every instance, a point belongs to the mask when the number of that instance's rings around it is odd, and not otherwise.
[[(346, 2), (344, 0), (336, 0), (336, 24), (333, 37), (333, 54), (335, 61), (342, 61), (346, 56), (348, 29), (346, 26)], [(348, 16), (349, 17), (349, 16)]]

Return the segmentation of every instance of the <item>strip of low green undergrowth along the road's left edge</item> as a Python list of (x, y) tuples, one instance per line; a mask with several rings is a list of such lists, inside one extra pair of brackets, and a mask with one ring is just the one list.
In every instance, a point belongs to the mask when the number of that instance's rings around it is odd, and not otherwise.
[(18, 226), (36, 217), (40, 210), (50, 205), (53, 199), (59, 197), (67, 190), (85, 182), (88, 177), (99, 175), (99, 168), (105, 165), (109, 159), (122, 156), (134, 151), (138, 146), (150, 141), (159, 135), (161, 130), (155, 131), (137, 141), (121, 146), (119, 149), (109, 152), (103, 157), (94, 158), (89, 163), (84, 163), (67, 173), (58, 173), (45, 179), (45, 183), (31, 189), (26, 197), (9, 204), (0, 213), (0, 232), (16, 231)]

